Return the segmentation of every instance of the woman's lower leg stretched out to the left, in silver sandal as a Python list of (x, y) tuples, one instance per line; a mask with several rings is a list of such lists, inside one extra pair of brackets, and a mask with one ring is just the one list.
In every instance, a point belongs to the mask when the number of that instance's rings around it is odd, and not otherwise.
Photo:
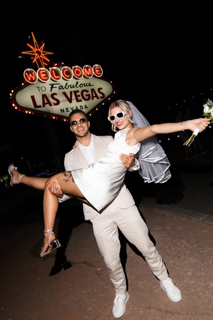
[[(10, 164), (14, 166), (14, 164)], [(12, 179), (15, 181), (18, 181), (22, 173), (19, 173), (17, 170), (12, 169), (11, 170), (12, 174)], [(20, 179), (20, 183), (26, 184), (29, 187), (38, 189), (38, 190), (44, 190), (45, 183), (49, 178), (39, 178), (39, 177), (28, 177), (28, 176), (23, 176)], [(16, 184), (16, 182), (11, 180), (12, 184)]]

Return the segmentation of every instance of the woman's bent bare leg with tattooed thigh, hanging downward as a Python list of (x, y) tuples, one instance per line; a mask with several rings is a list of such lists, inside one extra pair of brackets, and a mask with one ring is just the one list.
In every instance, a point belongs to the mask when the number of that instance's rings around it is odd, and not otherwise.
[[(60, 185), (61, 191), (66, 194), (71, 194), (77, 198), (82, 199), (82, 201), (86, 199), (84, 198), (83, 194), (80, 192), (79, 188), (75, 184), (72, 178), (71, 171), (65, 171), (58, 173), (51, 178), (49, 178), (45, 183), (44, 188), (44, 198), (43, 198), (43, 210), (44, 210), (44, 230), (49, 230), (54, 228), (54, 223), (56, 219), (56, 213), (58, 210), (58, 198), (51, 193), (48, 189), (49, 186), (54, 184), (57, 180), (57, 183)], [(88, 203), (88, 202), (87, 202)], [(55, 240), (55, 236), (51, 234), (50, 236), (50, 243)], [(44, 233), (44, 245), (42, 252), (46, 252), (49, 246), (49, 233)]]

